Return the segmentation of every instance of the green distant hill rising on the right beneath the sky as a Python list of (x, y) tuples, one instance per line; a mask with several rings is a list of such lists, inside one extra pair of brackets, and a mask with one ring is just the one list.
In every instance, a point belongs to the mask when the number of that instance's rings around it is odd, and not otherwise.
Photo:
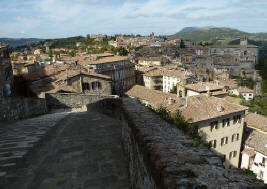
[(232, 28), (217, 27), (186, 27), (180, 32), (169, 36), (170, 38), (189, 39), (193, 42), (208, 41), (214, 44), (228, 44), (232, 40), (236, 40), (242, 36), (247, 36), (254, 41), (267, 41), (267, 33), (247, 33)]

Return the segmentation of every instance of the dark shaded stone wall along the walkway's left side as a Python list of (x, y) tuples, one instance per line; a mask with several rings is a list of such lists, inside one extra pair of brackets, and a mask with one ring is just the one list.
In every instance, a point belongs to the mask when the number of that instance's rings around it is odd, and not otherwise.
[(47, 112), (45, 100), (23, 97), (0, 98), (0, 120), (18, 120)]

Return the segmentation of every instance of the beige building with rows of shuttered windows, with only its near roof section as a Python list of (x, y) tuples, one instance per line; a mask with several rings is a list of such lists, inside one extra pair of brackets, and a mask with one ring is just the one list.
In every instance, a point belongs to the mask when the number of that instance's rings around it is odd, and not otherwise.
[(224, 159), (226, 168), (238, 167), (246, 107), (207, 95), (191, 96), (182, 115)]

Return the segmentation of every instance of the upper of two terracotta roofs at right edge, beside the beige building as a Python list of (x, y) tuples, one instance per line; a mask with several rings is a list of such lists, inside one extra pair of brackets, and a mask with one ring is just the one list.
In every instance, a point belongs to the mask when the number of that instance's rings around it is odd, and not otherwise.
[(255, 113), (248, 113), (245, 116), (245, 121), (248, 126), (267, 132), (267, 117)]

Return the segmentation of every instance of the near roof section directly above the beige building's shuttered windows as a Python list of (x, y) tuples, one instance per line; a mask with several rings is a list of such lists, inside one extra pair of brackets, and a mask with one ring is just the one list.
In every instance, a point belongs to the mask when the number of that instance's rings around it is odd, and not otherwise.
[(221, 98), (198, 95), (188, 97), (187, 106), (180, 110), (186, 119), (192, 119), (191, 122), (194, 123), (247, 109), (247, 107), (232, 104)]

